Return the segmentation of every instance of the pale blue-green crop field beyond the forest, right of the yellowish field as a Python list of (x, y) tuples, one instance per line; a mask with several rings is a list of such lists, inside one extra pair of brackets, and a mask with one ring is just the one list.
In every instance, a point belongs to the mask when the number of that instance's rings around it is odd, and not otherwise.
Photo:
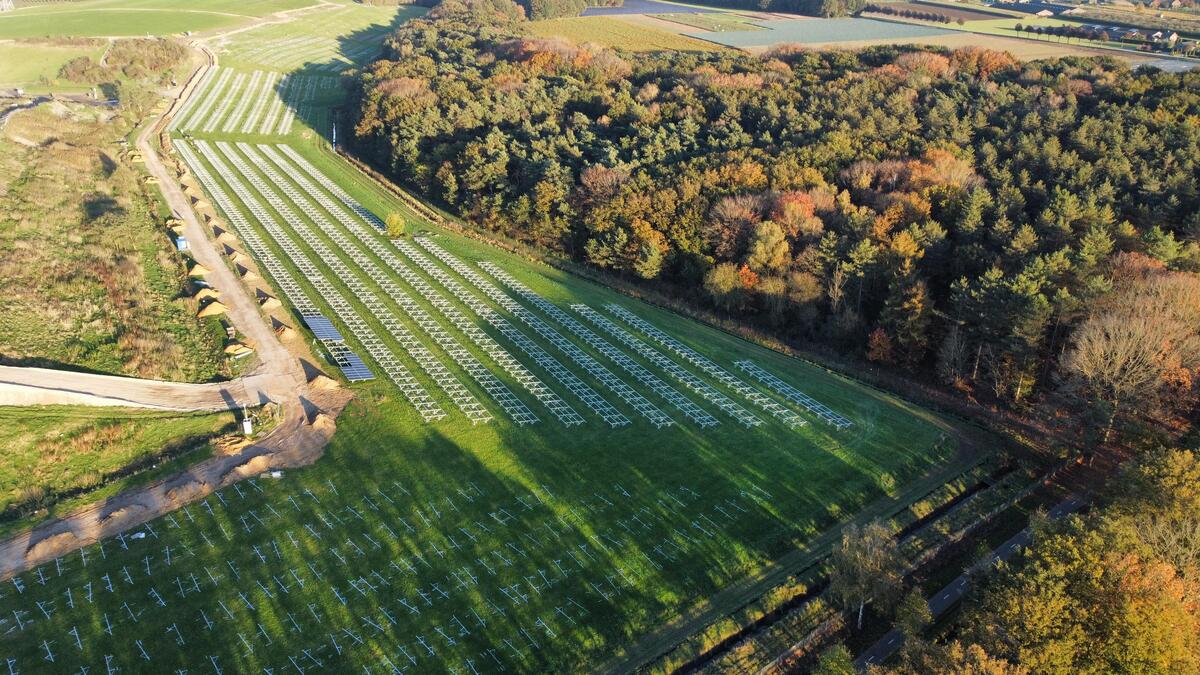
[(930, 25), (876, 19), (784, 19), (758, 24), (768, 30), (685, 34), (728, 47), (766, 47), (780, 43), (835, 43), (875, 40), (912, 40), (947, 35), (949, 30)]

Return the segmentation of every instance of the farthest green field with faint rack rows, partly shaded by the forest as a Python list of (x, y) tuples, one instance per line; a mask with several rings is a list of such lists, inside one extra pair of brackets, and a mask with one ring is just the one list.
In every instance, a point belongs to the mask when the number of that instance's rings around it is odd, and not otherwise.
[(304, 67), (336, 73), (373, 59), (389, 30), (424, 12), (413, 6), (329, 5), (287, 23), (234, 34), (215, 46), (222, 62), (244, 70)]

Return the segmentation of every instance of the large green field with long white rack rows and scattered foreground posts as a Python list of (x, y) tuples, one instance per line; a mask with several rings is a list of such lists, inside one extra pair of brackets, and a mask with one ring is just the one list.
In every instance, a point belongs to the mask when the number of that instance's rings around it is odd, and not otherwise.
[(443, 232), (311, 144), (176, 150), (358, 398), (314, 466), (0, 586), (13, 669), (595, 668), (965, 461), (936, 416)]

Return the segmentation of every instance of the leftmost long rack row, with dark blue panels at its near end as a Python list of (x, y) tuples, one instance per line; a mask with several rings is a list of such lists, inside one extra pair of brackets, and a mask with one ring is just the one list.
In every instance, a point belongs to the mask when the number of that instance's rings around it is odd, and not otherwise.
[[(251, 255), (258, 258), (262, 263), (263, 269), (271, 276), (275, 281), (275, 286), (283, 293), (283, 295), (292, 303), (292, 306), (296, 309), (296, 312), (301, 317), (320, 317), (325, 323), (329, 323), (320, 311), (308, 298), (308, 294), (296, 283), (295, 279), (287, 270), (282, 262), (275, 257), (271, 250), (266, 246), (266, 243), (258, 235), (258, 232), (250, 225), (250, 221), (241, 214), (241, 211), (233, 204), (229, 196), (226, 193), (224, 189), (214, 180), (212, 174), (204, 167), (204, 165), (197, 160), (196, 155), (187, 143), (182, 141), (175, 142), (175, 151), (184, 159), (184, 161), (192, 168), (192, 173), (199, 179), (204, 189), (212, 196), (214, 203), (217, 208), (226, 215), (226, 219), (233, 223), (234, 231), (250, 249)], [(316, 319), (314, 319), (316, 321)], [(307, 319), (306, 319), (307, 323)], [(332, 330), (331, 333), (329, 330)], [(337, 368), (346, 375), (347, 380), (350, 381), (364, 381), (373, 380), (374, 376), (371, 374), (362, 359), (359, 358), (344, 342), (341, 333), (334, 329), (332, 324), (322, 325), (322, 335), (318, 335), (322, 345), (329, 352), (330, 358), (337, 365)]]

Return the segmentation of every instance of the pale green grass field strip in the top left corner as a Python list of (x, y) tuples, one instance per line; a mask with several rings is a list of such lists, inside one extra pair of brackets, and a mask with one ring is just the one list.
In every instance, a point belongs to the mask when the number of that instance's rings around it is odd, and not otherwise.
[(0, 38), (48, 36), (138, 36), (206, 31), (253, 17), (312, 5), (308, 0), (84, 0), (0, 14)]

